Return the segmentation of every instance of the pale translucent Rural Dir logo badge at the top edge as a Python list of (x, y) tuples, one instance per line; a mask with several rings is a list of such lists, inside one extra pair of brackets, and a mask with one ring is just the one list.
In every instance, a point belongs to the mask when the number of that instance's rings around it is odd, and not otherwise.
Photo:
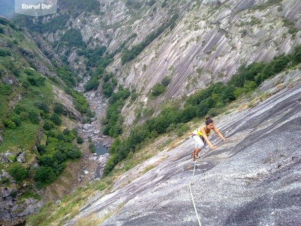
[(57, 0), (15, 0), (15, 13), (44, 16), (56, 13)]

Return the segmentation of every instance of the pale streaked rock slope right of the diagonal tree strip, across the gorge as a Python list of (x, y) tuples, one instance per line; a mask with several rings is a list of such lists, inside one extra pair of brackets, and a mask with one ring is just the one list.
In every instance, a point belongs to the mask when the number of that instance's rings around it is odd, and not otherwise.
[[(268, 62), (300, 44), (301, 32), (292, 37), (281, 19), (284, 16), (297, 21), (295, 26), (300, 29), (300, 1), (284, 0), (270, 7), (263, 4), (262, 9), (253, 7), (261, 3), (239, 0), (216, 6), (191, 6), (171, 32), (154, 40), (125, 70), (115, 62), (112, 70), (122, 68), (117, 73), (119, 82), (135, 87), (141, 94), (137, 105), (123, 108), (125, 123), (133, 123), (138, 103), (164, 76), (172, 79), (164, 95), (151, 103), (154, 109), (162, 101), (189, 95), (210, 81), (226, 82), (242, 63)], [(145, 107), (150, 107), (149, 101)]]

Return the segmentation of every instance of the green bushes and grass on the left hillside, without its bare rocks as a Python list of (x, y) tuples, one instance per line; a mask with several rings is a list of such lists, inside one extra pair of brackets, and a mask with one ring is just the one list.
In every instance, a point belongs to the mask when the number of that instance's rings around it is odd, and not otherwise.
[[(5, 22), (0, 20), (1, 24)], [(75, 142), (82, 143), (83, 139), (75, 129), (61, 130), (63, 118), (73, 114), (54, 97), (55, 78), (50, 81), (48, 75), (42, 75), (36, 69), (36, 62), (41, 60), (37, 46), (19, 30), (12, 30), (17, 27), (11, 24), (6, 22), (6, 31), (10, 35), (1, 35), (1, 40), (8, 44), (6, 49), (0, 50), (0, 71), (9, 75), (13, 82), (5, 83), (2, 79), (0, 82), (0, 130), (3, 136), (0, 152), (10, 150), (12, 153), (8, 156), (12, 161), (8, 173), (18, 183), (23, 180), (29, 182), (29, 177), (33, 177), (39, 188), (53, 181), (65, 167), (66, 161), (81, 156)], [(92, 115), (83, 94), (71, 88), (77, 84), (77, 76), (70, 68), (56, 67), (52, 72), (66, 82), (66, 90), (77, 104), (75, 108)], [(60, 85), (58, 81), (56, 83)], [(26, 164), (16, 162), (17, 154), (22, 151), (26, 151), (26, 163), (37, 157), (37, 169), (25, 168)]]

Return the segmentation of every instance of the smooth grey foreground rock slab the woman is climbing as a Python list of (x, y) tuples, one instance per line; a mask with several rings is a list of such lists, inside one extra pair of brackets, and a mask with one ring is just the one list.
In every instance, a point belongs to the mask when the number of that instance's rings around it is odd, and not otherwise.
[[(200, 152), (191, 186), (203, 225), (301, 225), (300, 109), (301, 83), (253, 109), (215, 120), (229, 140), (211, 135), (218, 148)], [(159, 152), (149, 160), (157, 166), (119, 189), (128, 180), (122, 175), (110, 194), (90, 202), (67, 225), (111, 211), (101, 225), (197, 225), (188, 187), (192, 171), (184, 171), (193, 165), (193, 147), (190, 137), (174, 150)], [(135, 176), (141, 167), (127, 175)]]

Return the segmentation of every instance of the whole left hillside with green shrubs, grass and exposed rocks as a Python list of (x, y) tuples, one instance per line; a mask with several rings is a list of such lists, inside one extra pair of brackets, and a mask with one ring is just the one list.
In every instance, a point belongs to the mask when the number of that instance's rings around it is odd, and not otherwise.
[(78, 122), (92, 115), (83, 94), (72, 89), (78, 75), (60, 62), (53, 66), (39, 45), (0, 18), (1, 221), (39, 209), (40, 189), (81, 156)]

